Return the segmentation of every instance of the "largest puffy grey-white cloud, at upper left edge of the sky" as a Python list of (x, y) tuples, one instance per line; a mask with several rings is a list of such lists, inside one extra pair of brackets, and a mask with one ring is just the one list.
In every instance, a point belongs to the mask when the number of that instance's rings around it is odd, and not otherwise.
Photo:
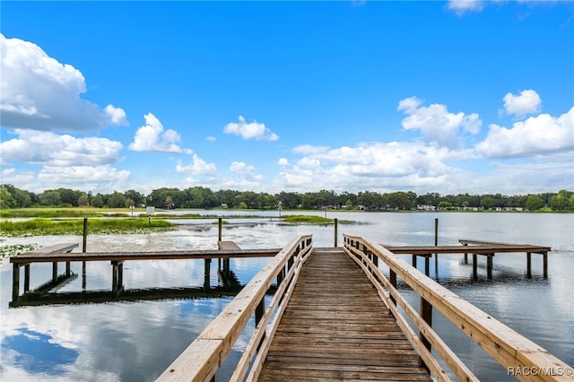
[(2, 126), (35, 130), (91, 131), (126, 125), (123, 109), (83, 100), (83, 74), (38, 45), (0, 34)]

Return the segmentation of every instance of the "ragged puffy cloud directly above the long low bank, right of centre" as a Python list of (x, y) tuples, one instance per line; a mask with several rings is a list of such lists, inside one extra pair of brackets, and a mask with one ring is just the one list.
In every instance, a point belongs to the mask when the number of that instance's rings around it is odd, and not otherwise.
[(459, 147), (461, 128), (471, 134), (477, 134), (483, 121), (478, 114), (448, 112), (445, 105), (434, 103), (429, 107), (422, 106), (422, 100), (410, 97), (401, 100), (397, 110), (402, 110), (408, 117), (403, 119), (406, 130), (421, 130), (422, 137), (431, 143), (446, 147)]

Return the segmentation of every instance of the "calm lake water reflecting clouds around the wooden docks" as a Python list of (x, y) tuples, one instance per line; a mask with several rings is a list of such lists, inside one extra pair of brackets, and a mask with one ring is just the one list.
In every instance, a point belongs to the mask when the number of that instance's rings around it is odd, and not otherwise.
[[(526, 277), (525, 254), (496, 255), (492, 280), (487, 279), (486, 262), (479, 257), (477, 282), (471, 278), (472, 265), (464, 265), (462, 256), (439, 256), (438, 269), (434, 259), (431, 260), (431, 277), (574, 366), (574, 215), (328, 213), (327, 216), (353, 221), (340, 224), (340, 234), (357, 234), (388, 245), (433, 245), (434, 220), (438, 218), (439, 245), (457, 245), (458, 239), (484, 239), (552, 247), (547, 279), (542, 276), (542, 256), (538, 255), (533, 255), (532, 278)], [(214, 249), (215, 221), (176, 221), (182, 224), (178, 230), (149, 235), (91, 235), (88, 251)], [(334, 245), (332, 226), (291, 226), (268, 218), (229, 221), (224, 226), (223, 239), (234, 240), (240, 247), (283, 247), (294, 237), (308, 233), (313, 234), (315, 247)], [(81, 241), (79, 237), (4, 238), (0, 245), (47, 246)], [(340, 237), (339, 246), (342, 243)], [(410, 261), (410, 256), (405, 259)], [(242, 283), (247, 283), (267, 261), (231, 260), (231, 269)], [(419, 261), (421, 270), (423, 263)], [(212, 265), (211, 283), (217, 285), (213, 268)], [(124, 269), (126, 289), (203, 285), (203, 260), (128, 262)], [(82, 273), (81, 264), (73, 264), (72, 270)], [(50, 277), (51, 265), (32, 265), (30, 287), (38, 287)], [(153, 380), (230, 301), (230, 298), (188, 299), (8, 308), (12, 265), (7, 259), (2, 261), (0, 279), (3, 381)], [(90, 291), (109, 290), (110, 265), (88, 263), (86, 283)], [(82, 291), (81, 277), (59, 291)], [(404, 293), (418, 306), (416, 296), (409, 291)], [(435, 314), (433, 326), (477, 377), (487, 381), (514, 380), (443, 317)], [(219, 380), (230, 375), (232, 363), (239, 359), (247, 341), (248, 333), (234, 348)]]

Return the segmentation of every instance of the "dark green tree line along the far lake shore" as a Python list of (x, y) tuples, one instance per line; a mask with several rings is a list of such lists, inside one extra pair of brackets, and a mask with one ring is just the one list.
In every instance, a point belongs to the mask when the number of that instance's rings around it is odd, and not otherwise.
[(133, 189), (112, 194), (96, 194), (69, 188), (45, 190), (35, 194), (13, 185), (0, 185), (0, 208), (26, 208), (33, 206), (60, 206), (96, 208), (129, 208), (155, 206), (157, 208), (240, 208), (240, 209), (362, 209), (367, 211), (394, 210), (527, 210), (574, 211), (574, 192), (560, 190), (558, 193), (530, 195), (440, 195), (427, 193), (416, 195), (413, 191), (396, 191), (380, 194), (361, 191), (357, 194), (320, 190), (318, 192), (265, 192), (221, 189), (208, 187), (178, 188), (162, 187), (143, 195)]

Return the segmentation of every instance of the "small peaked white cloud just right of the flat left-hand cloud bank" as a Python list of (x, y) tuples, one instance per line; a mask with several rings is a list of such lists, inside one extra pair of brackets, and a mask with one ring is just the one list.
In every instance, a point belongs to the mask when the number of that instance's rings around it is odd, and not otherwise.
[(175, 130), (164, 130), (160, 120), (152, 113), (145, 116), (145, 125), (137, 129), (134, 142), (130, 143), (128, 149), (135, 152), (175, 152), (191, 153), (189, 149), (182, 149), (178, 146), (181, 140)]

